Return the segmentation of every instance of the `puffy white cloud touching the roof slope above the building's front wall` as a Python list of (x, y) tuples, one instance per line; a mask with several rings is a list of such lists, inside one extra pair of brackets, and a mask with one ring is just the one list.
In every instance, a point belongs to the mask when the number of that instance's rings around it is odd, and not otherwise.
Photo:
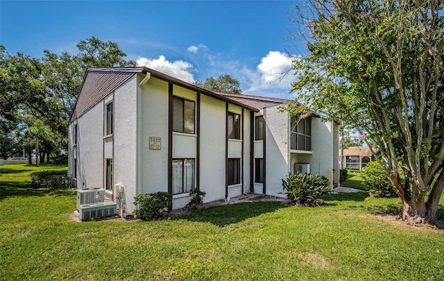
[(139, 57), (136, 60), (136, 64), (140, 67), (152, 68), (188, 83), (194, 83), (193, 72), (196, 70), (191, 63), (183, 60), (170, 62), (164, 56), (159, 56), (157, 59)]

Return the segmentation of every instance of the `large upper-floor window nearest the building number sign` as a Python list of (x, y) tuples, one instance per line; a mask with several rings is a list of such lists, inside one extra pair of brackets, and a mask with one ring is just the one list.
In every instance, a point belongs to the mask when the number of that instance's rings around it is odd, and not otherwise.
[(194, 101), (173, 97), (173, 131), (194, 134)]

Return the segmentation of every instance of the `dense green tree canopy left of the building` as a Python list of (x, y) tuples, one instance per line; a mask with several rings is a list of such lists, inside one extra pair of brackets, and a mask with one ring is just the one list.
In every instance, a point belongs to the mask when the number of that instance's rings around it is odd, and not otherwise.
[[(15, 144), (25, 146), (31, 160), (32, 141), (26, 140), (33, 138), (28, 130), (34, 130), (35, 124), (52, 134), (37, 140), (42, 159), (53, 151), (66, 151), (67, 125), (86, 69), (135, 66), (114, 42), (91, 37), (76, 46), (75, 55), (45, 50), (43, 58), (31, 58), (10, 55), (0, 45), (0, 156), (17, 153)], [(15, 142), (17, 138), (22, 142)]]

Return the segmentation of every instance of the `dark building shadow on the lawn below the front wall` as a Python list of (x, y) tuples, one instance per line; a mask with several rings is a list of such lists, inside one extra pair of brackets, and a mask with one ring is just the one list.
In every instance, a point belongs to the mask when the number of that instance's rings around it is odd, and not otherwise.
[(207, 207), (183, 216), (178, 216), (176, 219), (209, 222), (223, 227), (232, 223), (239, 223), (240, 221), (244, 221), (254, 216), (275, 212), (276, 210), (284, 207), (288, 206), (276, 201), (245, 202), (232, 205)]

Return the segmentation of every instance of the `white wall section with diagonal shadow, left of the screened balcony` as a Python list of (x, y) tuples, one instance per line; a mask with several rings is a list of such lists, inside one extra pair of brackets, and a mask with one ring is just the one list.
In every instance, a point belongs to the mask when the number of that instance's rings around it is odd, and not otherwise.
[(289, 169), (289, 117), (278, 107), (266, 109), (266, 194), (285, 196), (282, 178)]

